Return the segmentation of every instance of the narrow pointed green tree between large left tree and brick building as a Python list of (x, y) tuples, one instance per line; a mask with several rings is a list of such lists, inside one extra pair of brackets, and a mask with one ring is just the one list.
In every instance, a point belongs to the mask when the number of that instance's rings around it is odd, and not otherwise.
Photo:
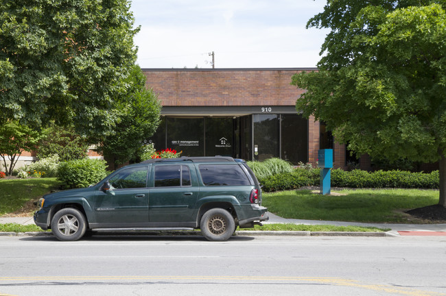
[(115, 134), (98, 139), (97, 151), (115, 164), (122, 164), (142, 149), (159, 125), (161, 103), (151, 89), (145, 88), (145, 75), (139, 66), (134, 66), (126, 83), (128, 92), (116, 97), (120, 110)]

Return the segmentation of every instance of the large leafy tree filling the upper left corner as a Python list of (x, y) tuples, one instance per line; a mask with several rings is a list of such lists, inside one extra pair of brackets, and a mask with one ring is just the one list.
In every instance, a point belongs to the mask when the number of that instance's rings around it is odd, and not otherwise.
[(110, 132), (136, 58), (127, 0), (0, 1), (0, 124)]

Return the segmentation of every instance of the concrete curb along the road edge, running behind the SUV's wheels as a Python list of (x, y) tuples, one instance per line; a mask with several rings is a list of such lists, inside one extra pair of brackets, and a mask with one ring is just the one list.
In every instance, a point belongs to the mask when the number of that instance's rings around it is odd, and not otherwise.
[[(193, 231), (95, 232), (97, 236), (202, 236)], [(0, 232), (0, 236), (53, 236), (51, 232)], [(236, 231), (235, 236), (366, 236), (395, 237), (388, 232), (309, 232), (309, 231)]]

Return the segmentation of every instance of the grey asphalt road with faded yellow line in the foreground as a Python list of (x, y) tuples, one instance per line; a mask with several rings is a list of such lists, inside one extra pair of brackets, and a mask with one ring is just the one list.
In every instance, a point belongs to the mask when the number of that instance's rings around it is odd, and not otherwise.
[(446, 238), (0, 236), (0, 295), (446, 295)]

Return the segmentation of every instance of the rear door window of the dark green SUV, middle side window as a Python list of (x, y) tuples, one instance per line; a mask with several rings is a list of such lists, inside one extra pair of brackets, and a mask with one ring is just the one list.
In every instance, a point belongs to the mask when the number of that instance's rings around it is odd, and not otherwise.
[(155, 187), (191, 186), (191, 172), (185, 165), (155, 166)]

